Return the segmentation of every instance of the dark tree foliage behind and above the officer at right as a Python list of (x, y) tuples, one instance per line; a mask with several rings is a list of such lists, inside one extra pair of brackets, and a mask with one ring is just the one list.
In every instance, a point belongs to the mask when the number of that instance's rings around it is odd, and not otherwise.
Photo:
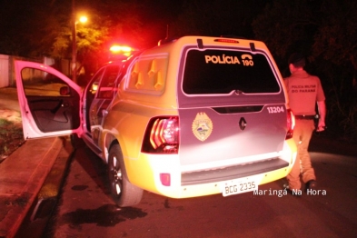
[[(276, 0), (253, 21), (281, 69), (293, 52), (308, 55), (306, 67), (322, 78), (328, 123), (357, 141), (357, 4), (353, 0)], [(331, 131), (331, 130), (330, 130)]]

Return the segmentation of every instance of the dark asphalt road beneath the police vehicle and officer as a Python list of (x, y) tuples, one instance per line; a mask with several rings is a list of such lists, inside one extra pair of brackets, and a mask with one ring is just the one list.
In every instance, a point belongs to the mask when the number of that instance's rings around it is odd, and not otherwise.
[(80, 148), (45, 237), (355, 237), (356, 155), (342, 149), (311, 154), (320, 191), (302, 197), (282, 193), (281, 180), (257, 194), (225, 198), (176, 200), (145, 192), (142, 203), (119, 209), (105, 185), (105, 165)]

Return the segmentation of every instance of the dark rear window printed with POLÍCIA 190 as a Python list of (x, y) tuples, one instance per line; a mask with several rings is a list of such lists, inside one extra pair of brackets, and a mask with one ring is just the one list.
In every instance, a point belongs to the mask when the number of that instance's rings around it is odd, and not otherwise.
[(192, 49), (184, 65), (183, 92), (267, 94), (280, 92), (280, 85), (265, 55)]

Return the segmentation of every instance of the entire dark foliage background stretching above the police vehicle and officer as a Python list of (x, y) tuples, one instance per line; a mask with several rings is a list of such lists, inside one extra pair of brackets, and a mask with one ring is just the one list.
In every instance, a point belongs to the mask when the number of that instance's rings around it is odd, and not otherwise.
[[(0, 1), (0, 54), (71, 58), (74, 0)], [(262, 40), (282, 74), (308, 56), (321, 77), (332, 134), (357, 140), (357, 2), (353, 0), (75, 0), (90, 21), (77, 25), (78, 61), (88, 76), (109, 45), (143, 48), (166, 36), (237, 35)]]

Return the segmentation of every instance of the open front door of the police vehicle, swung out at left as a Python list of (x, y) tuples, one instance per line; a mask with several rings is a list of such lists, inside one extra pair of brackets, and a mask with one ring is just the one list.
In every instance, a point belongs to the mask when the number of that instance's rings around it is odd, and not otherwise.
[(54, 68), (15, 61), (25, 139), (82, 134), (81, 88)]

